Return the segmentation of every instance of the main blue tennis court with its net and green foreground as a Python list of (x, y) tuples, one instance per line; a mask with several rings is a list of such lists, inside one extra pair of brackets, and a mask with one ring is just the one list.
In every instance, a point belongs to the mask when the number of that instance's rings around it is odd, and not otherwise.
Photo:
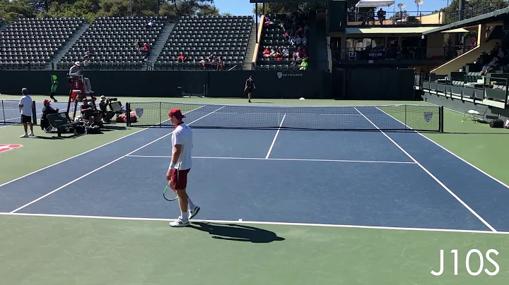
[[(143, 109), (131, 123), (138, 132), (0, 185), (7, 283), (509, 278), (509, 189), (412, 131), (440, 131), (438, 107), (130, 106)], [(143, 128), (168, 125), (170, 106), (194, 127), (188, 188), (201, 211), (191, 229), (168, 226), (180, 210), (162, 197), (172, 129)], [(470, 276), (464, 255), (491, 248), (500, 272)], [(440, 250), (449, 255), (445, 273), (434, 277)], [(479, 258), (469, 264), (477, 271)], [(483, 266), (495, 270), (486, 259)]]

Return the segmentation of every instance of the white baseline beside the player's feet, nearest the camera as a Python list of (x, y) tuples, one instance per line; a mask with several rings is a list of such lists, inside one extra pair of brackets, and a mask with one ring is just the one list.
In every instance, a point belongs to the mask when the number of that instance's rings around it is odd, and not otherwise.
[[(105, 216), (82, 216), (73, 214), (30, 214), (30, 213), (5, 213), (0, 212), (3, 216), (28, 216), (28, 217), (59, 217), (59, 218), (74, 218), (74, 219), (108, 219), (108, 220), (121, 220), (121, 221), (144, 221), (144, 222), (172, 222), (175, 219), (157, 219), (157, 218), (134, 218), (134, 217), (105, 217)], [(217, 224), (268, 224), (277, 226), (320, 226), (325, 228), (344, 228), (344, 229), (383, 229), (383, 230), (396, 230), (396, 231), (431, 231), (431, 232), (449, 232), (449, 233), (465, 233), (465, 234), (504, 234), (507, 231), (476, 231), (468, 229), (427, 229), (427, 228), (404, 228), (397, 226), (358, 226), (349, 224), (308, 224), (308, 223), (288, 223), (288, 222), (257, 222), (245, 221), (244, 219), (238, 220), (210, 220), (210, 219), (192, 219), (193, 222), (209, 222)]]

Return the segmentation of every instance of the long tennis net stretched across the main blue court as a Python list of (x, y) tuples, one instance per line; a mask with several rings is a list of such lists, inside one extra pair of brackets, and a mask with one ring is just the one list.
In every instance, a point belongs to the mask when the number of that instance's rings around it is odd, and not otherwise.
[[(180, 102), (128, 102), (136, 121), (127, 126), (171, 127), (168, 111), (178, 108), (192, 128), (323, 131), (443, 131), (443, 107), (419, 104), (288, 107)], [(129, 116), (127, 116), (129, 118)]]

